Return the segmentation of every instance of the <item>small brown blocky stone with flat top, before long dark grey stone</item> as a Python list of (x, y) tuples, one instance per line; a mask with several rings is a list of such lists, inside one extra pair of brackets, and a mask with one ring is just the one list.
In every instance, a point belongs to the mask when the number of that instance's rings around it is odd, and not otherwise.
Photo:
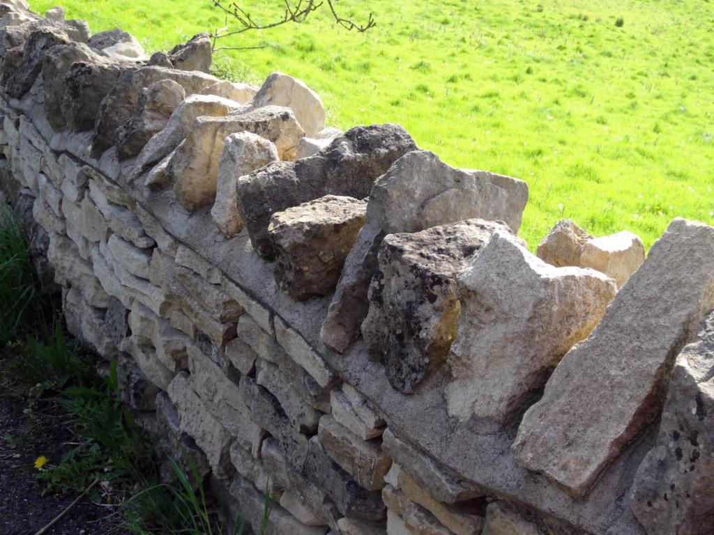
[(326, 195), (274, 213), (268, 237), (281, 289), (298, 300), (334, 290), (366, 210), (364, 200)]

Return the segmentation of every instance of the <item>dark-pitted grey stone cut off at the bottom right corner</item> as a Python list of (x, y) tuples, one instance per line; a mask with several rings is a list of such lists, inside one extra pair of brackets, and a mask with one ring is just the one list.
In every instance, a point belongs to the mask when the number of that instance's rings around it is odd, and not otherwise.
[(633, 484), (633, 513), (650, 535), (705, 535), (714, 526), (714, 312), (675, 360), (655, 447)]

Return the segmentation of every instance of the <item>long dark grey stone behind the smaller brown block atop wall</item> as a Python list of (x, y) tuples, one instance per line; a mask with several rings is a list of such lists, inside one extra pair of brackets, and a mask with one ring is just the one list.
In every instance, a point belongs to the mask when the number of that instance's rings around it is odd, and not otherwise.
[(325, 195), (365, 198), (374, 181), (414, 148), (401, 126), (357, 126), (310, 158), (271, 163), (241, 177), (236, 185), (238, 210), (256, 253), (273, 260), (268, 238), (273, 213)]

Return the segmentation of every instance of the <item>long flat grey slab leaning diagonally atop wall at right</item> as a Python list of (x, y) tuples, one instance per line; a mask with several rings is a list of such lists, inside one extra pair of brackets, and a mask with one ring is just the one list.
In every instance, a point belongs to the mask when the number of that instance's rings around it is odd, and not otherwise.
[[(658, 416), (675, 355), (714, 307), (714, 228), (675, 219), (523, 416), (516, 462), (583, 499)], [(587, 404), (581, 401), (588, 399)]]

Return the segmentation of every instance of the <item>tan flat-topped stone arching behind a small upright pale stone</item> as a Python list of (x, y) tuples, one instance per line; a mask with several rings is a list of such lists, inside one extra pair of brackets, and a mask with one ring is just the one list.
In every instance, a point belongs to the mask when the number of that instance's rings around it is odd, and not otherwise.
[[(231, 133), (248, 131), (275, 143), (278, 155), (294, 147), (303, 136), (288, 108), (268, 106), (226, 117), (199, 117), (188, 138), (169, 163), (174, 192), (183, 208), (194, 211), (216, 199), (218, 162), (223, 140)], [(240, 195), (240, 192), (238, 192)]]

